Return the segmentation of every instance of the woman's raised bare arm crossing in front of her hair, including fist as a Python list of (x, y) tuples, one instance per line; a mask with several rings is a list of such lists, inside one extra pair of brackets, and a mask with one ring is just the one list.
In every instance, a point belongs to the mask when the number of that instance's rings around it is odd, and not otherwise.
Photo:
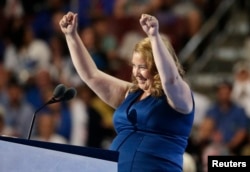
[(158, 20), (154, 16), (143, 14), (140, 24), (150, 39), (154, 61), (169, 104), (182, 113), (191, 112), (193, 100), (190, 87), (181, 77), (172, 54), (159, 34)]

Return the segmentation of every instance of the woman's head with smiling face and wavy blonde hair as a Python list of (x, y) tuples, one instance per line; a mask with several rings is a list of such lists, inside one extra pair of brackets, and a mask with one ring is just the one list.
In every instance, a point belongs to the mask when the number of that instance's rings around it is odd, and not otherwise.
[[(184, 70), (168, 38), (163, 35), (162, 40), (175, 61), (180, 76), (183, 77)], [(131, 78), (132, 86), (129, 91), (134, 92), (142, 89), (152, 96), (158, 97), (164, 95), (161, 78), (154, 62), (153, 51), (148, 37), (135, 45), (131, 62), (133, 74)]]

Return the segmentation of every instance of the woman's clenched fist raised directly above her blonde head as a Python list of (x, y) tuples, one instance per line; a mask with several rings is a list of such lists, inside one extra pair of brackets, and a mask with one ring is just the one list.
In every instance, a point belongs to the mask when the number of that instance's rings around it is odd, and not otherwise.
[(148, 36), (155, 36), (158, 33), (159, 23), (156, 17), (148, 14), (142, 14), (140, 18), (140, 24), (143, 31)]

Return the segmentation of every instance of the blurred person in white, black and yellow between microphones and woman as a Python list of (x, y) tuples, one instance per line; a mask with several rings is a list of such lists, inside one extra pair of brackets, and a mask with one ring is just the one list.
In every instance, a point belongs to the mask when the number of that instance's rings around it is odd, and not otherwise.
[(70, 102), (72, 117), (71, 143), (108, 148), (113, 138), (112, 109), (105, 105), (85, 84), (77, 87), (77, 97)]

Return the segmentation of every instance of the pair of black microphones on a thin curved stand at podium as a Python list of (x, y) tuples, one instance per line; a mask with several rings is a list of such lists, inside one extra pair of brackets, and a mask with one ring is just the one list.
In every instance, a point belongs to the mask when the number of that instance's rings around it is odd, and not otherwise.
[(76, 93), (77, 93), (76, 89), (73, 87), (66, 89), (66, 87), (63, 84), (57, 85), (56, 88), (54, 89), (53, 97), (34, 112), (33, 117), (32, 117), (32, 121), (31, 121), (31, 125), (30, 125), (30, 129), (29, 129), (29, 135), (28, 135), (27, 139), (30, 140), (32, 128), (33, 128), (35, 118), (36, 118), (36, 114), (41, 109), (43, 109), (45, 106), (52, 104), (52, 103), (71, 100), (72, 98), (74, 98), (76, 96)]

